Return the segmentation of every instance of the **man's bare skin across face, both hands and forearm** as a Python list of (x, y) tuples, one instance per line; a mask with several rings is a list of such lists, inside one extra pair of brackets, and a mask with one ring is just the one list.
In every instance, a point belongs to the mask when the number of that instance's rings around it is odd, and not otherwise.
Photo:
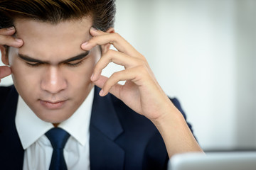
[[(39, 118), (50, 123), (68, 119), (95, 84), (102, 88), (100, 96), (110, 92), (134, 111), (149, 118), (161, 133), (169, 157), (181, 152), (202, 152), (183, 116), (156, 81), (146, 58), (121, 35), (114, 33), (113, 28), (106, 33), (95, 30), (91, 28), (90, 18), (57, 25), (29, 20), (16, 20), (15, 23), (16, 38), (21, 42), (10, 37), (15, 30), (0, 30), (0, 44), (11, 46), (9, 60), (0, 46), (4, 64), (11, 66), (11, 69), (0, 67), (0, 79), (12, 71), (18, 93)], [(117, 50), (110, 50), (110, 45)], [(102, 48), (101, 57), (99, 46)], [(70, 56), (86, 51), (90, 51), (90, 55), (78, 67), (60, 64)], [(30, 67), (18, 57), (18, 53), (47, 63)], [(103, 77), (102, 69), (110, 62), (125, 69), (109, 78)], [(118, 84), (118, 81), (124, 80), (124, 85)], [(68, 101), (63, 108), (48, 109), (40, 103), (46, 99)]]

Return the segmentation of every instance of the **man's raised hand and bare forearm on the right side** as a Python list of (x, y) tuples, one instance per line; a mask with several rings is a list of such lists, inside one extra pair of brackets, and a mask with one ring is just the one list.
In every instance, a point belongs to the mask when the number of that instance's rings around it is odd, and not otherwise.
[[(102, 88), (100, 96), (110, 92), (134, 111), (149, 118), (161, 133), (169, 157), (182, 152), (203, 152), (183, 116), (159, 86), (145, 57), (117, 33), (104, 33), (91, 28), (90, 34), (92, 39), (82, 44), (83, 50), (107, 44), (117, 49), (104, 51), (95, 65), (91, 80)], [(102, 69), (110, 62), (125, 69), (115, 72), (110, 78), (101, 76)], [(120, 85), (119, 81), (126, 83)]]

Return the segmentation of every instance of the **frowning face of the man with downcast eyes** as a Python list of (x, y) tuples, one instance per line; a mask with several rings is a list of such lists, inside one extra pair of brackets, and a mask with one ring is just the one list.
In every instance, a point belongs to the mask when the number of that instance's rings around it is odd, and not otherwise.
[(21, 48), (9, 48), (14, 85), (34, 113), (50, 123), (68, 119), (92, 89), (92, 71), (100, 48), (89, 52), (82, 42), (91, 38), (91, 18), (53, 25), (16, 19), (16, 37)]

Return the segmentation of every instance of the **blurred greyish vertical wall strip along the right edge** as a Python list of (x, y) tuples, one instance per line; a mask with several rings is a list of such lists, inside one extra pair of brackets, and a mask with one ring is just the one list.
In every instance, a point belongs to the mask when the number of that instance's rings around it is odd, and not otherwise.
[(236, 27), (236, 144), (256, 146), (256, 1), (237, 1)]

